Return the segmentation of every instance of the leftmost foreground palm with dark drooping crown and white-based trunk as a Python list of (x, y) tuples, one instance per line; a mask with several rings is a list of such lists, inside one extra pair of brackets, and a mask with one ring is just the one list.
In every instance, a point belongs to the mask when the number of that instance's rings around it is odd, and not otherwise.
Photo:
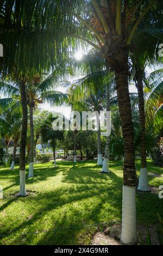
[[(4, 46), (4, 55), (0, 59), (1, 79), (9, 79), (20, 85), (23, 115), (20, 139), (20, 196), (26, 196), (25, 164), (28, 118), (26, 87), (27, 84), (32, 83), (36, 74), (42, 74), (44, 70), (54, 70), (54, 66), (57, 69), (59, 66), (54, 56), (57, 48), (56, 34), (54, 36), (51, 28), (45, 29), (44, 18), (42, 20), (40, 16), (41, 19), (37, 19), (35, 15), (37, 4), (34, 2), (29, 5), (27, 1), (16, 0), (10, 4), (2, 1), (0, 10), (0, 40)], [(36, 45), (40, 47), (35, 47)]]

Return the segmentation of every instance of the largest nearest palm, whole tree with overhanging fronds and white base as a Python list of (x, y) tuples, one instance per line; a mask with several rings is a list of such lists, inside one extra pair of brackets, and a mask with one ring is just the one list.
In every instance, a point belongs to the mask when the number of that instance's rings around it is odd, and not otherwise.
[[(93, 46), (98, 54), (105, 58), (108, 68), (115, 72), (118, 105), (124, 137), (121, 240), (124, 243), (133, 243), (136, 240), (136, 172), (134, 130), (128, 90), (128, 52), (131, 48), (131, 40), (136, 34), (136, 29), (141, 24), (145, 15), (152, 8), (152, 11), (156, 12), (158, 10), (158, 13), (161, 13), (162, 6), (160, 1), (157, 0), (132, 0), (129, 2), (121, 0), (110, 0), (109, 2), (103, 0), (99, 2), (96, 0), (83, 0), (80, 3), (74, 0), (69, 2), (68, 8), (66, 5), (67, 1), (65, 0), (59, 1), (58, 4), (51, 0), (46, 1), (46, 3), (42, 1), (39, 5), (37, 1), (33, 1), (33, 8), (30, 5), (35, 14), (38, 14), (38, 21), (40, 21), (40, 14), (42, 14), (43, 10), (43, 26), (46, 27), (45, 22), (49, 25), (51, 24), (49, 21), (52, 21), (54, 34), (58, 38), (57, 47), (54, 48), (54, 50), (56, 48), (59, 49), (55, 55), (58, 61), (61, 60), (61, 56), (65, 60), (66, 53), (69, 53), (70, 49), (78, 47), (78, 41), (83, 40)], [(20, 13), (26, 17), (27, 15), (24, 15), (26, 8), (29, 11), (27, 3), (20, 5), (20, 7), (18, 5), (16, 11), (20, 9)], [(10, 10), (12, 10), (12, 4)], [(7, 13), (7, 18), (11, 20), (10, 13), (12, 12), (8, 10)], [(52, 16), (55, 19), (52, 19)], [(29, 23), (28, 20), (27, 23)], [(8, 22), (5, 24), (8, 24)], [(126, 208), (128, 208), (128, 211), (126, 211)]]

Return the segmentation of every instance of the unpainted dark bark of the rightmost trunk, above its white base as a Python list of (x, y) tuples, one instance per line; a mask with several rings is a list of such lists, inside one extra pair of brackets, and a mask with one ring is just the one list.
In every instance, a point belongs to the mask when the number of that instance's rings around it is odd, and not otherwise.
[(145, 101), (144, 101), (144, 95), (143, 95), (142, 79), (143, 79), (143, 70), (136, 71), (137, 92), (139, 97), (141, 168), (146, 168), (147, 161), (146, 161)]

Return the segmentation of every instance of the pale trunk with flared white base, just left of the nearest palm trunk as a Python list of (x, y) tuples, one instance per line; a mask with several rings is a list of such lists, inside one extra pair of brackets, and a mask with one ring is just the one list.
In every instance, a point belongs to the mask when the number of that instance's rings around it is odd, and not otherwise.
[[(106, 111), (110, 111), (110, 89), (106, 86)], [(107, 116), (106, 116), (107, 118)], [(106, 136), (105, 154), (101, 173), (110, 173), (109, 171), (109, 136)]]

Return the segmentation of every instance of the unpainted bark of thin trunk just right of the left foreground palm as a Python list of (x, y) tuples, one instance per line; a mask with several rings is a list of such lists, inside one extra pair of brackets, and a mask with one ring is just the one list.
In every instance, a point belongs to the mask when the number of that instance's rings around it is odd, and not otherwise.
[(33, 104), (30, 103), (29, 106), (29, 118), (30, 118), (30, 152), (29, 152), (29, 162), (34, 161), (34, 127), (33, 127)]

